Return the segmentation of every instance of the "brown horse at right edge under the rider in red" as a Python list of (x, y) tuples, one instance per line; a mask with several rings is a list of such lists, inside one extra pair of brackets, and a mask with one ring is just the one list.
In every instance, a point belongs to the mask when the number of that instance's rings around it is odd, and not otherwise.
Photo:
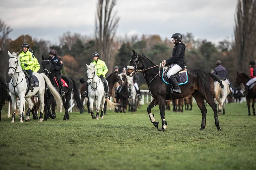
[[(245, 73), (236, 72), (236, 74), (237, 75), (236, 75), (235, 86), (238, 87), (240, 86), (241, 83), (243, 83), (245, 87), (245, 84), (250, 80), (249, 76), (246, 75)], [(252, 112), (253, 112), (253, 115), (255, 116), (254, 104), (255, 104), (255, 98), (256, 98), (256, 85), (254, 85), (252, 89), (249, 89), (248, 95), (245, 98), (246, 98), (247, 107), (248, 107), (248, 116), (251, 116), (251, 110), (250, 110), (251, 99), (252, 99)]]

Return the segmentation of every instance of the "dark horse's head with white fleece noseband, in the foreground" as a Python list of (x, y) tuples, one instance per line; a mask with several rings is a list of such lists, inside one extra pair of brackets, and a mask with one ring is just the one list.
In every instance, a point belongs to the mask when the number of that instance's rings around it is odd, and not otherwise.
[(138, 60), (138, 54), (136, 53), (136, 51), (132, 50), (132, 57), (129, 63), (129, 66), (127, 66), (127, 75), (128, 76), (133, 76), (135, 74), (136, 71), (138, 71), (139, 69), (142, 69), (142, 65), (140, 64), (139, 60)]

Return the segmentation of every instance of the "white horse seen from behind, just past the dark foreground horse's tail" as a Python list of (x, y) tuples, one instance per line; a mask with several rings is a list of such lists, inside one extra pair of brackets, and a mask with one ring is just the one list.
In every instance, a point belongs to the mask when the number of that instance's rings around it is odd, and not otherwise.
[[(214, 82), (214, 96), (217, 101), (217, 102), (215, 101), (215, 103), (218, 104), (219, 115), (221, 114), (222, 108), (223, 108), (223, 115), (225, 115), (225, 101), (226, 101), (228, 94), (230, 93), (228, 83), (226, 81), (222, 81), (222, 84), (224, 85), (224, 88), (221, 89), (220, 83), (217, 81)], [(220, 96), (221, 96), (221, 98), (220, 98)]]

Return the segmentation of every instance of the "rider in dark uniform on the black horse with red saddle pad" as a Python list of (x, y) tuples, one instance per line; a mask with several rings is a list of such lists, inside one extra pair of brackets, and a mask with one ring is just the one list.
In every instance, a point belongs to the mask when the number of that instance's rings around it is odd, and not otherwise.
[(51, 60), (51, 72), (59, 81), (60, 90), (61, 90), (60, 95), (65, 96), (65, 92), (63, 91), (63, 84), (62, 84), (61, 77), (60, 77), (60, 71), (63, 68), (63, 62), (62, 62), (61, 58), (59, 58), (57, 56), (56, 50), (51, 50), (49, 52), (49, 55), (52, 59)]

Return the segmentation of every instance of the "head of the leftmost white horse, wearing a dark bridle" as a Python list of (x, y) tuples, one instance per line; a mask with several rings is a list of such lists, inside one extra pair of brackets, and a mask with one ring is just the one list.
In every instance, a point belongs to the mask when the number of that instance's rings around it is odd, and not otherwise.
[(8, 51), (8, 55), (10, 57), (10, 59), (9, 59), (9, 72), (8, 72), (8, 75), (10, 77), (12, 77), (15, 73), (18, 73), (17, 69), (20, 68), (20, 59), (19, 59), (20, 53), (19, 52), (18, 53), (14, 52), (14, 53), (11, 54)]

